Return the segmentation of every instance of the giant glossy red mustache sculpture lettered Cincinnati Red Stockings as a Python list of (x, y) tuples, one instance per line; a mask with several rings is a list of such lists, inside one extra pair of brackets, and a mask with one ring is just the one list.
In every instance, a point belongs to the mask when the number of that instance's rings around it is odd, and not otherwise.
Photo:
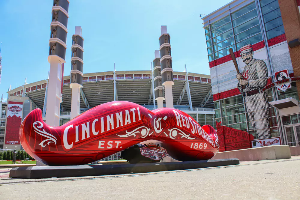
[(150, 111), (127, 101), (96, 106), (60, 127), (44, 123), (41, 109), (23, 120), (20, 141), (26, 152), (50, 166), (82, 165), (132, 145), (157, 140), (176, 160), (207, 160), (218, 151), (218, 137), (186, 113), (172, 108)]

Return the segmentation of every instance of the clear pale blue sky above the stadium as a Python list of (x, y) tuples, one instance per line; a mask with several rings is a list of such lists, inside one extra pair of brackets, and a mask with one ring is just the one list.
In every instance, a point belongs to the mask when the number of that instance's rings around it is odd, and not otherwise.
[[(34, 4), (36, 2), (36, 4)], [(82, 3), (84, 2), (84, 3)], [(70, 74), (71, 37), (82, 27), (83, 73), (150, 70), (159, 49), (161, 25), (171, 36), (173, 70), (210, 74), (202, 19), (229, 0), (70, 0), (66, 64)], [(52, 0), (0, 1), (2, 77), (0, 95), (12, 85), (46, 79)]]

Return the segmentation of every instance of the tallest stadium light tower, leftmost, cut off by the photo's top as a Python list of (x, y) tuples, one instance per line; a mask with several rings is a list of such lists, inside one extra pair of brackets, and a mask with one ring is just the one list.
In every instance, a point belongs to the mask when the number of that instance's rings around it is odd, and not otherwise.
[(62, 102), (62, 63), (66, 62), (68, 10), (68, 0), (53, 0), (48, 56), (50, 72), (46, 107), (46, 123), (50, 126), (59, 126), (60, 103)]

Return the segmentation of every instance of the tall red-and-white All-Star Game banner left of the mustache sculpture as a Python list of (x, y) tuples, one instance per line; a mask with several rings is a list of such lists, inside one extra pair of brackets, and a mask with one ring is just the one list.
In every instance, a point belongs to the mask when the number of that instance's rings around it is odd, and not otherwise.
[(22, 122), (23, 103), (9, 101), (7, 104), (5, 145), (19, 145), (19, 128)]

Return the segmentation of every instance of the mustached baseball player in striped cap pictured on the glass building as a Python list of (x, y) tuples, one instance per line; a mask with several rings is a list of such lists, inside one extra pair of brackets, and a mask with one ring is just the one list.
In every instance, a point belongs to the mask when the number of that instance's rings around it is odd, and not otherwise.
[(241, 47), (241, 58), (246, 64), (237, 74), (238, 90), (243, 94), (249, 121), (258, 139), (271, 138), (268, 95), (261, 91), (267, 85), (268, 68), (264, 61), (253, 58), (251, 44)]

